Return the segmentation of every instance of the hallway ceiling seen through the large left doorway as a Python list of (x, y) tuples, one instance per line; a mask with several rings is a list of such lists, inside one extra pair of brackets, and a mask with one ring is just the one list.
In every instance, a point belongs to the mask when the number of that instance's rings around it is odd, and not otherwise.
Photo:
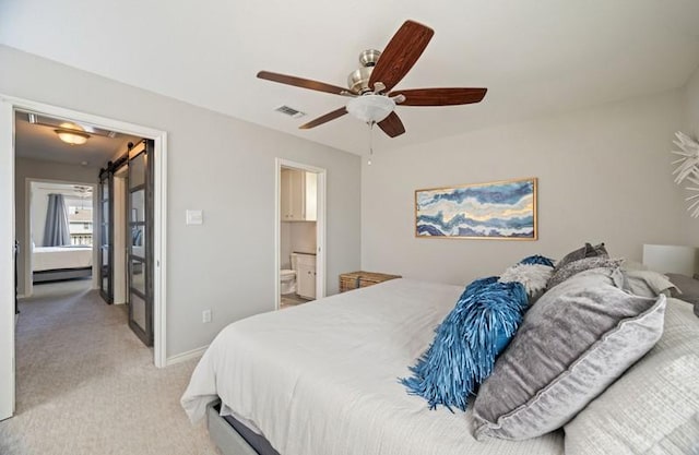
[[(14, 149), (19, 158), (67, 165), (104, 167), (120, 151), (126, 149), (129, 142), (140, 141), (125, 134), (118, 134), (115, 139), (93, 134), (83, 145), (70, 145), (58, 139), (56, 127), (29, 123), (25, 112), (15, 113), (14, 124)], [(91, 130), (90, 125), (83, 125), (83, 129)]]

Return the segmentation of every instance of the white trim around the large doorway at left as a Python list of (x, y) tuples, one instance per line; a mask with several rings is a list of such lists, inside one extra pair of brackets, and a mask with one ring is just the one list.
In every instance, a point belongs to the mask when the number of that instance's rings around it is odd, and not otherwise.
[[(14, 414), (14, 111), (91, 123), (99, 128), (154, 141), (154, 299), (153, 331), (155, 367), (167, 364), (166, 352), (166, 251), (167, 251), (167, 132), (81, 112), (54, 105), (0, 94), (0, 208), (12, 216), (0, 217), (0, 420)], [(96, 177), (95, 177), (96, 180)], [(277, 280), (279, 282), (279, 280)]]

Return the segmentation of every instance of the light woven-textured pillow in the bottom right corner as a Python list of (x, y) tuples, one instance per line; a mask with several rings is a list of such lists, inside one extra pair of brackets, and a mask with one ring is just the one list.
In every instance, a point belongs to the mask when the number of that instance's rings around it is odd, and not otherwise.
[(699, 454), (699, 320), (667, 299), (657, 344), (566, 424), (566, 455)]

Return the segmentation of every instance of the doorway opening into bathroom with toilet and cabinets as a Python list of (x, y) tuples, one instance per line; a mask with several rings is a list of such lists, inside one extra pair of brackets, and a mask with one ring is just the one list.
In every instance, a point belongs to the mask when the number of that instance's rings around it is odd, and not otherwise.
[(276, 309), (325, 296), (325, 169), (277, 158)]

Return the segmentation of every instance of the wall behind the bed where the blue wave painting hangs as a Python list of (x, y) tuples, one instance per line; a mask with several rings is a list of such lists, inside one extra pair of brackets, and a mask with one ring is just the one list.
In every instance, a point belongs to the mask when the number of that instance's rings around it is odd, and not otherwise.
[[(682, 124), (683, 91), (673, 91), (375, 151), (362, 171), (362, 267), (464, 284), (585, 241), (638, 261), (643, 243), (676, 243), (685, 231), (668, 153)], [(538, 241), (414, 237), (416, 189), (522, 177), (538, 178)]]

